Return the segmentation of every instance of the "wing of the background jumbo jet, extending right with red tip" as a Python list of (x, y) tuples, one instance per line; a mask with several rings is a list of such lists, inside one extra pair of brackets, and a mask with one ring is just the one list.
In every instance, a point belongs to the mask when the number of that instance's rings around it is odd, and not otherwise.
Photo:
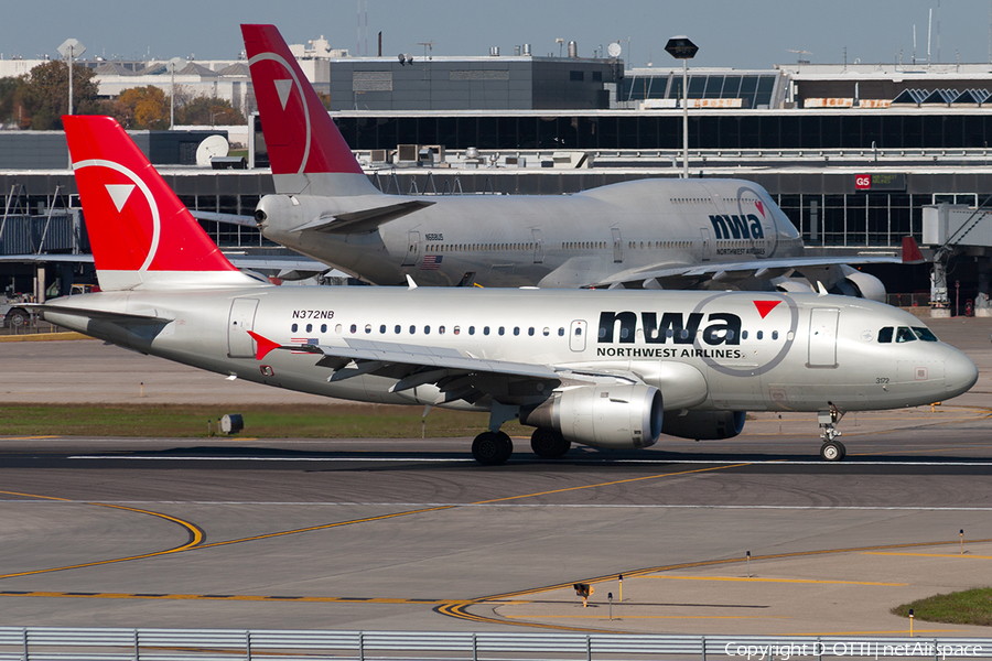
[(629, 269), (627, 271), (614, 273), (596, 283), (592, 283), (590, 286), (608, 286), (628, 282), (643, 283), (653, 279), (659, 281), (686, 278), (722, 280), (722, 274), (733, 273), (736, 277), (745, 274), (747, 271), (751, 272), (748, 273), (751, 275), (764, 279), (783, 275), (789, 271), (801, 271), (804, 267), (869, 263), (899, 264), (903, 263), (903, 259), (897, 256), (872, 254), (847, 257), (788, 257), (783, 259), (762, 259), (738, 262), (692, 263), (677, 267), (657, 264), (655, 267), (641, 267), (639, 269)]

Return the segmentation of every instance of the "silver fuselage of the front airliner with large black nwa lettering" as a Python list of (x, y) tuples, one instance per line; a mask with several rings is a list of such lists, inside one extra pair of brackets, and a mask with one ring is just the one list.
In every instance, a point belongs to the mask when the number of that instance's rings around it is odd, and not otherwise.
[[(914, 335), (909, 329), (921, 324), (897, 308), (830, 295), (753, 299), (702, 292), (259, 286), (72, 296), (53, 301), (45, 316), (114, 344), (248, 381), (476, 411), (490, 410), (493, 398), (445, 402), (432, 383), (398, 390), (399, 378), (381, 366), (375, 376), (348, 378), (354, 365), (322, 364), (313, 355), (272, 351), (259, 361), (248, 330), (301, 347), (430, 346), (472, 359), (550, 366), (562, 381), (557, 387), (565, 389), (570, 373), (607, 381), (612, 373), (634, 373), (661, 391), (672, 415), (914, 407), (955, 397), (973, 383), (974, 365), (963, 354), (921, 339), (923, 332)], [(103, 311), (107, 321), (99, 314), (62, 314), (60, 305)], [(121, 324), (115, 314), (158, 321)], [(519, 392), (502, 393), (502, 402), (526, 408), (548, 399), (550, 392), (532, 379), (524, 383)]]

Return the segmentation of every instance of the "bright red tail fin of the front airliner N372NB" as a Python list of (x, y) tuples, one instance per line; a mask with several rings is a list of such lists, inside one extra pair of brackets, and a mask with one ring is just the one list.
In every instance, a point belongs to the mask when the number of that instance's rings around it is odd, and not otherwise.
[(112, 117), (62, 121), (101, 290), (258, 284), (227, 261)]

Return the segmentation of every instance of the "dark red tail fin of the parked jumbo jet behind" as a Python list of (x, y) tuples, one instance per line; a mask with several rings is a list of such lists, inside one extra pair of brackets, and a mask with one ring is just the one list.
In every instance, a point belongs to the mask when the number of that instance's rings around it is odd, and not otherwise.
[(241, 25), (276, 180), (284, 195), (378, 195), (274, 25)]

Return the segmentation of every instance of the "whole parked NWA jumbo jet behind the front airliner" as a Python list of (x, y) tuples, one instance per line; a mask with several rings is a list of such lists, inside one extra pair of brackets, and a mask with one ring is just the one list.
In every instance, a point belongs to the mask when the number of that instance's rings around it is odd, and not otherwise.
[[(277, 195), (265, 236), (376, 284), (816, 290), (883, 300), (848, 262), (810, 258), (757, 184), (643, 180), (568, 196), (385, 195), (369, 183), (272, 25), (241, 25)], [(812, 288), (810, 288), (812, 285)]]

